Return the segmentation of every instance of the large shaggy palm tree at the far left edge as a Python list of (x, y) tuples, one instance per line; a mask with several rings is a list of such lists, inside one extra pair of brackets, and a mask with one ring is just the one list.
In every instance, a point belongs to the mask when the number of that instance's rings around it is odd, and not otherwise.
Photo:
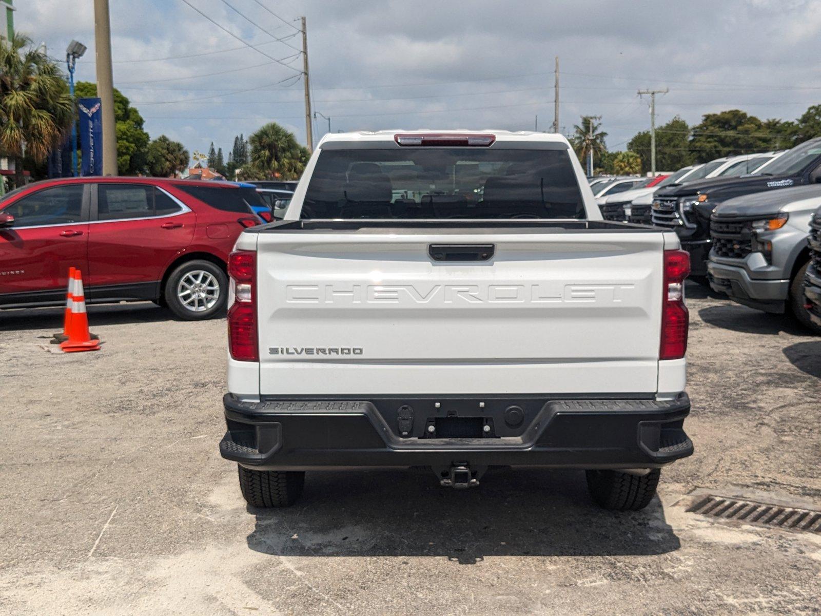
[(0, 45), (0, 149), (15, 159), (15, 182), (23, 182), (23, 157), (42, 161), (74, 121), (74, 103), (57, 64), (15, 34)]

